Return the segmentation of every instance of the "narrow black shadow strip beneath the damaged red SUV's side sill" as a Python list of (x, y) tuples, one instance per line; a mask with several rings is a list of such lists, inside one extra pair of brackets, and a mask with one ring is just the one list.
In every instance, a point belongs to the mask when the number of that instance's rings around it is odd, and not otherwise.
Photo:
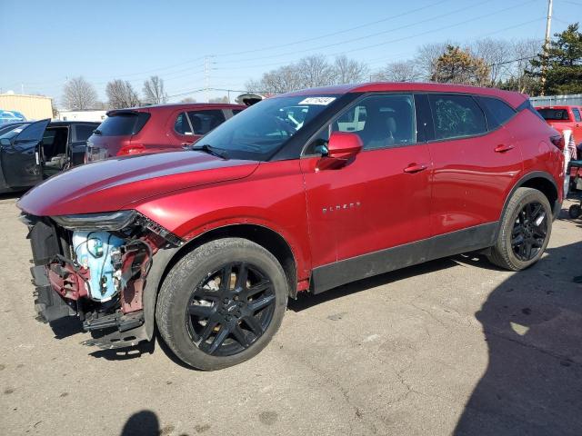
[(415, 275), (426, 274), (428, 272), (435, 272), (456, 266), (457, 263), (453, 258), (437, 259), (427, 263), (421, 263), (414, 266), (409, 266), (401, 270), (393, 272), (386, 272), (384, 274), (375, 275), (366, 279), (358, 280), (357, 282), (347, 283), (343, 286), (330, 289), (329, 291), (313, 295), (309, 292), (298, 292), (296, 300), (289, 300), (287, 308), (293, 312), (301, 312), (307, 308), (335, 300), (337, 298), (345, 297), (351, 293), (366, 291), (377, 286), (382, 286), (390, 282), (397, 282), (405, 280), (408, 277)]

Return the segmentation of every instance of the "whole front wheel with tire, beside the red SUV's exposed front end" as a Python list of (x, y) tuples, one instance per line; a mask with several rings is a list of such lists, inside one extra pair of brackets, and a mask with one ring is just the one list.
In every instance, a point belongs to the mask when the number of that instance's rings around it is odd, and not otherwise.
[(287, 295), (273, 254), (246, 239), (218, 239), (187, 253), (167, 274), (156, 322), (180, 360), (219, 370), (265, 348), (281, 325)]

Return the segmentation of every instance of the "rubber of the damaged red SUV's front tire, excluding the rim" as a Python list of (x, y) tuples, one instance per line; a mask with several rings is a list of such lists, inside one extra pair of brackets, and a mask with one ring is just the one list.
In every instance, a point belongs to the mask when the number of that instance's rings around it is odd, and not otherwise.
[[(225, 263), (237, 261), (255, 265), (273, 282), (275, 309), (266, 331), (249, 348), (232, 356), (212, 356), (192, 342), (186, 324), (186, 306), (196, 285), (209, 273), (219, 270)], [(162, 285), (161, 292), (170, 292), (166, 328), (172, 339), (166, 342), (182, 361), (200, 370), (216, 370), (245, 362), (263, 350), (278, 330), (286, 311), (287, 288), (280, 264), (260, 245), (235, 238), (207, 243), (176, 263)]]

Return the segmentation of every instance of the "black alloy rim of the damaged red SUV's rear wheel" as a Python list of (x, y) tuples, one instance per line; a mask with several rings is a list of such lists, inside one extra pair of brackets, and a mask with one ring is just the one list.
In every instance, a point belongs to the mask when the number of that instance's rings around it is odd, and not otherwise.
[(511, 233), (511, 246), (517, 259), (528, 262), (544, 247), (547, 238), (547, 213), (541, 203), (527, 203), (517, 213)]

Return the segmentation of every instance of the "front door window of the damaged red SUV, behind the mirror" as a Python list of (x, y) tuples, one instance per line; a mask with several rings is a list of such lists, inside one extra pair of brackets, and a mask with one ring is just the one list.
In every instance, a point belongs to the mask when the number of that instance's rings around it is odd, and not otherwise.
[(350, 107), (331, 124), (332, 132), (352, 132), (365, 150), (416, 143), (412, 95), (372, 95)]

